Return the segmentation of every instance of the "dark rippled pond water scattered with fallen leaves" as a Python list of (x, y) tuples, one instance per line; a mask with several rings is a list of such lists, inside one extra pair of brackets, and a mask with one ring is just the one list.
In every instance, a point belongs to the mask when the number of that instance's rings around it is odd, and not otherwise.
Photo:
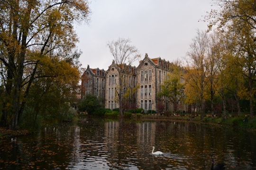
[[(161, 156), (151, 154), (152, 146)], [(40, 133), (0, 141), (3, 170), (226, 170), (256, 169), (256, 135), (174, 121), (85, 118)]]

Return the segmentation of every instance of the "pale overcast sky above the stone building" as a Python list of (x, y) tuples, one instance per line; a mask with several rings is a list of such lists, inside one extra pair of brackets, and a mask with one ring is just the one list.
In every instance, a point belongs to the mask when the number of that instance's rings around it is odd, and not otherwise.
[[(198, 22), (214, 8), (212, 0), (90, 0), (91, 21), (76, 26), (82, 51), (82, 67), (107, 70), (113, 57), (107, 42), (130, 39), (141, 54), (161, 57), (170, 62), (183, 59), (197, 29)], [(134, 63), (138, 66), (138, 62)]]

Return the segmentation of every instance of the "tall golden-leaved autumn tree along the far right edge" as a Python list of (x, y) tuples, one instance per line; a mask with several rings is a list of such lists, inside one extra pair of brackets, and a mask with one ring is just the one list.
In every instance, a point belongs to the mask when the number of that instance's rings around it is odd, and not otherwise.
[(238, 66), (247, 81), (250, 118), (254, 116), (256, 81), (256, 2), (255, 0), (219, 0), (219, 10), (211, 10), (205, 17), (209, 30), (216, 26), (220, 32), (235, 37), (232, 44)]

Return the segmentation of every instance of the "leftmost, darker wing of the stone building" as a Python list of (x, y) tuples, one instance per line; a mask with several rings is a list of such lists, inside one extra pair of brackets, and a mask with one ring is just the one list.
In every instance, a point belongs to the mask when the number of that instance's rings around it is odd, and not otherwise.
[(105, 71), (99, 68), (90, 68), (87, 66), (82, 75), (81, 82), (81, 98), (83, 99), (86, 94), (95, 95), (102, 104), (105, 101)]

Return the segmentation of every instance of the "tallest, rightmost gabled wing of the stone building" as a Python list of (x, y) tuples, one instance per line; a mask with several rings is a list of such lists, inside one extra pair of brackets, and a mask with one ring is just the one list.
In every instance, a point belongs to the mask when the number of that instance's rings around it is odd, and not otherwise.
[(137, 83), (140, 86), (137, 90), (137, 108), (142, 108), (145, 112), (170, 110), (170, 101), (165, 97), (157, 97), (157, 93), (160, 92), (160, 85), (167, 73), (171, 73), (171, 64), (160, 57), (150, 59), (147, 54), (140, 61), (137, 67)]

